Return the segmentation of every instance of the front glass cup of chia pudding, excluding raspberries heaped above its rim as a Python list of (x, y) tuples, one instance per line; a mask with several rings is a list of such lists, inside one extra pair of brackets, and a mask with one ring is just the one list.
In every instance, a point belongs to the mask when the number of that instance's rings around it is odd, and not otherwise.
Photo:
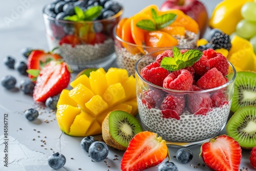
[[(148, 53), (135, 64), (137, 103), (143, 130), (157, 133), (174, 144), (186, 145), (217, 136), (230, 113), (236, 70), (227, 61), (226, 81), (216, 88), (202, 90), (193, 86), (189, 91), (167, 89), (146, 80), (141, 72), (163, 52)], [(161, 71), (157, 72), (161, 77)], [(197, 79), (195, 77), (194, 80)]]

